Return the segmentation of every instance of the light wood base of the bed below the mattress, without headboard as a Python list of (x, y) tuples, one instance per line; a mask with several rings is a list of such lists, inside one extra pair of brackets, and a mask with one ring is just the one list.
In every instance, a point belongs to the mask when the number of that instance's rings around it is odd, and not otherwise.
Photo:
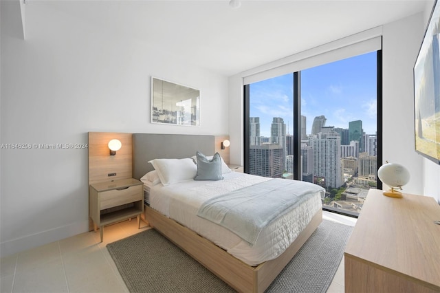
[(283, 254), (256, 267), (243, 263), (208, 239), (181, 226), (149, 206), (145, 206), (145, 219), (151, 227), (173, 241), (179, 248), (190, 254), (193, 259), (235, 290), (239, 292), (264, 292), (319, 226), (322, 221), (322, 210), (314, 215), (309, 225), (303, 232), (300, 232), (294, 243)]

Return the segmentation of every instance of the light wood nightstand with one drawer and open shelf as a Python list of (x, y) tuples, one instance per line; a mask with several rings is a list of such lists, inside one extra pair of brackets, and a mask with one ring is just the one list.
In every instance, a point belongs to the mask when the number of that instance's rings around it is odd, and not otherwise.
[(95, 232), (100, 229), (101, 242), (104, 226), (137, 217), (144, 212), (142, 182), (133, 178), (90, 184), (90, 217)]

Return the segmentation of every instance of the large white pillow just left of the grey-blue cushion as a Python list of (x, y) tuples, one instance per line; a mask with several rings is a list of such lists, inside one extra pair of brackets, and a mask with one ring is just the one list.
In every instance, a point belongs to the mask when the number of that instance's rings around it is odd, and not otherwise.
[(148, 163), (153, 165), (160, 182), (164, 185), (193, 180), (197, 175), (197, 166), (190, 158), (155, 159)]

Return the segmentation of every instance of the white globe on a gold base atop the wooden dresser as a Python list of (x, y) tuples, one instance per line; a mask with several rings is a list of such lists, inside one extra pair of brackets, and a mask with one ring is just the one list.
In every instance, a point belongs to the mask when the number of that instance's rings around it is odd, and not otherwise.
[(379, 177), (384, 184), (391, 187), (390, 190), (383, 192), (384, 195), (388, 197), (402, 197), (401, 192), (396, 191), (395, 188), (401, 189), (401, 186), (404, 186), (410, 181), (408, 169), (401, 164), (388, 163), (388, 161), (377, 170), (377, 177)]

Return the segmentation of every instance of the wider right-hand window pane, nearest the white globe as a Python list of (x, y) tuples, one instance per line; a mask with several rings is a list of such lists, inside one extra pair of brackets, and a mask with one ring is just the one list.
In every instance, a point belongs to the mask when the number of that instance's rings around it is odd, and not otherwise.
[(324, 206), (357, 214), (377, 184), (377, 53), (301, 72), (303, 180)]

